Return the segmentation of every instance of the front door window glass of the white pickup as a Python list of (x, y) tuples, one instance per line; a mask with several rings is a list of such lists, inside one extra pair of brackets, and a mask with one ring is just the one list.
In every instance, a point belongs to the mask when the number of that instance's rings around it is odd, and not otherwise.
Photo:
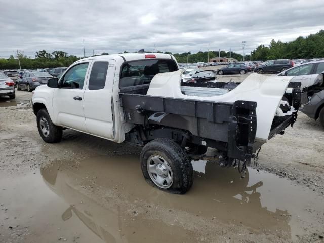
[(83, 89), (89, 63), (82, 63), (69, 69), (61, 79), (61, 88)]

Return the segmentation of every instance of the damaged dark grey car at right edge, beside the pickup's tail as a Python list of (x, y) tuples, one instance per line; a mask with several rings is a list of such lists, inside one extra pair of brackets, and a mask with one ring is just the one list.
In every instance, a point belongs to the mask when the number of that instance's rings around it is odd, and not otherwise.
[(312, 119), (319, 119), (324, 128), (324, 72), (302, 93), (300, 110)]

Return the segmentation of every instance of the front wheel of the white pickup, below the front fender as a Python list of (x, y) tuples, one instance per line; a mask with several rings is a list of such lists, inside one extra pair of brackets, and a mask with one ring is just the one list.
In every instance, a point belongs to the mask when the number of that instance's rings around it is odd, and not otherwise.
[(37, 112), (38, 132), (47, 143), (57, 143), (62, 139), (62, 128), (52, 123), (51, 117), (46, 109)]

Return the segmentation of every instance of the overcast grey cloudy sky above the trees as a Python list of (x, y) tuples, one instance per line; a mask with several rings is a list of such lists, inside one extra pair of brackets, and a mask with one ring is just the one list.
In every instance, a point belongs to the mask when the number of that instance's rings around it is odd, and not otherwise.
[(0, 57), (21, 50), (102, 52), (210, 50), (246, 53), (271, 39), (324, 29), (322, 0), (0, 0)]

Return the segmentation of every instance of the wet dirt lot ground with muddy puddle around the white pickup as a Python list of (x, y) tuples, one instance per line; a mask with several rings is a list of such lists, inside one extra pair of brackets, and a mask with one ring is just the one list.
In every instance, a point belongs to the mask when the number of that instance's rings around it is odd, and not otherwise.
[(174, 195), (146, 184), (138, 147), (72, 130), (44, 143), (31, 96), (0, 97), (0, 242), (324, 242), (324, 130), (302, 113), (260, 172), (195, 161)]

